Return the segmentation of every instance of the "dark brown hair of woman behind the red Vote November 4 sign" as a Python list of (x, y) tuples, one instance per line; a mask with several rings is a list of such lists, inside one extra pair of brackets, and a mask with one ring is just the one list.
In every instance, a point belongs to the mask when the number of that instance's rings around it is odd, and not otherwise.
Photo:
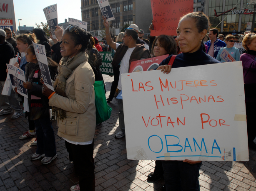
[(163, 46), (163, 48), (167, 51), (167, 54), (177, 55), (177, 43), (175, 39), (173, 39), (173, 37), (170, 37), (164, 34), (156, 37), (156, 39), (154, 40), (151, 48), (151, 54), (154, 54), (154, 47), (157, 40)]

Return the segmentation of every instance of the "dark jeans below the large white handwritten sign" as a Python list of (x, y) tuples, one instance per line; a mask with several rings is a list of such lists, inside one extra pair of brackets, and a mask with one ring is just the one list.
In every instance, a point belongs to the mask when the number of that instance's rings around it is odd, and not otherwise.
[(162, 161), (167, 191), (200, 191), (199, 169), (202, 163)]

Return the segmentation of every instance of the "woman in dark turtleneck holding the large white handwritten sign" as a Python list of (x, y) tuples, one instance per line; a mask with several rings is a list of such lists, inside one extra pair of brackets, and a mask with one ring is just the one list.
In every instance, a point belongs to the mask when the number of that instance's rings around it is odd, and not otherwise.
[[(192, 12), (181, 17), (177, 28), (177, 42), (182, 54), (170, 62), (168, 56), (157, 70), (170, 73), (171, 68), (220, 63), (203, 51), (203, 39), (209, 27), (208, 17), (203, 12)], [(162, 161), (166, 190), (199, 191), (199, 169), (202, 161)]]

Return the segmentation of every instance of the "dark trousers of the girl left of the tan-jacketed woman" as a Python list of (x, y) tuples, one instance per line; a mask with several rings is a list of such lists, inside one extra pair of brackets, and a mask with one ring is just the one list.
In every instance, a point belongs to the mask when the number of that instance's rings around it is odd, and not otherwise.
[(34, 122), (38, 146), (36, 153), (45, 153), (45, 157), (54, 157), (56, 154), (55, 135), (50, 118), (39, 118)]

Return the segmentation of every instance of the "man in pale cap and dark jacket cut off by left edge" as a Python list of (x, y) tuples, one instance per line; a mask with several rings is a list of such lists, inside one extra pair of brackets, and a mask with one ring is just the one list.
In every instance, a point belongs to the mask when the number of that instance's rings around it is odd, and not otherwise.
[[(2, 95), (3, 86), (7, 77), (6, 64), (9, 64), (10, 59), (15, 57), (15, 51), (13, 46), (5, 41), (6, 33), (3, 29), (0, 29), (0, 115), (13, 113), (12, 119), (16, 119), (22, 115), (20, 103), (15, 98), (15, 92), (11, 89), (11, 95)], [(12, 109), (13, 108), (13, 109)]]

